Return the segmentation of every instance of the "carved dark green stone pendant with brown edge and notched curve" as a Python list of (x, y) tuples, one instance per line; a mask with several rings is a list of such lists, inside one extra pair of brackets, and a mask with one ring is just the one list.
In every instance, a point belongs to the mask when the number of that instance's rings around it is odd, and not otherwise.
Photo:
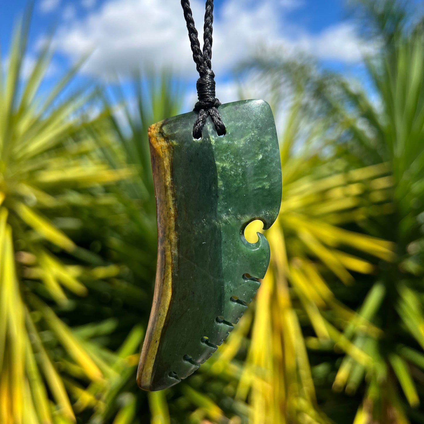
[[(168, 388), (204, 363), (233, 329), (268, 268), (270, 249), (243, 235), (268, 229), (281, 201), (281, 164), (271, 108), (262, 100), (219, 107), (193, 139), (196, 114), (149, 128), (158, 221), (153, 305), (137, 371), (145, 390)], [(256, 277), (256, 278), (254, 278)]]

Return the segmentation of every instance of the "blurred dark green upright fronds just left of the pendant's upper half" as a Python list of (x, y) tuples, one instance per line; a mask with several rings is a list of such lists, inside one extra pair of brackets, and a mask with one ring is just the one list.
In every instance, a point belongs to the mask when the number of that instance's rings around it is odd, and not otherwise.
[(158, 75), (134, 73), (129, 96), (120, 85), (112, 86), (109, 96), (107, 91), (103, 105), (109, 117), (107, 131), (114, 134), (115, 143), (112, 145), (114, 154), (106, 149), (105, 158), (114, 169), (130, 165), (136, 172), (136, 177), (120, 183), (116, 192), (126, 205), (131, 229), (124, 237), (115, 234), (110, 247), (121, 255), (138, 278), (150, 278), (156, 269), (157, 230), (147, 129), (179, 113), (184, 90), (178, 78), (163, 71)]

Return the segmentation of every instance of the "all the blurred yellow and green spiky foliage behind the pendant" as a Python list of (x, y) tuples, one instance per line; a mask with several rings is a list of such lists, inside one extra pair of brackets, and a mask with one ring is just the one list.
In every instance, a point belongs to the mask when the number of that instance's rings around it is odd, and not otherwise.
[(270, 268), (214, 356), (145, 393), (147, 128), (184, 89), (165, 71), (135, 74), (129, 97), (68, 87), (77, 64), (41, 95), (52, 50), (24, 78), (28, 10), (0, 64), (1, 423), (424, 422), (422, 15), (394, 0), (354, 11), (375, 40), (361, 83), (282, 52), (240, 65), (284, 115)]

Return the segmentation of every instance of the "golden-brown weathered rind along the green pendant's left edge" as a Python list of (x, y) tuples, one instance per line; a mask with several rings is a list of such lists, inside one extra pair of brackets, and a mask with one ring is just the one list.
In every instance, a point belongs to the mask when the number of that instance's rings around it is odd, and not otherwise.
[(172, 146), (161, 136), (161, 125), (162, 122), (159, 122), (148, 129), (156, 195), (158, 257), (153, 304), (137, 370), (137, 384), (149, 391), (152, 390), (153, 365), (172, 296), (173, 252), (176, 251)]

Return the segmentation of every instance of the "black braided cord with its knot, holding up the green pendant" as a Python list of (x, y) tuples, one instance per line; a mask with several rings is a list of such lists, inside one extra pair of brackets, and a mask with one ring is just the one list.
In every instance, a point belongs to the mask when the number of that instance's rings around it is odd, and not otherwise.
[(184, 11), (184, 19), (187, 23), (193, 60), (195, 61), (197, 72), (200, 75), (196, 83), (198, 102), (193, 109), (194, 112), (198, 113), (196, 122), (193, 126), (193, 137), (195, 139), (200, 139), (202, 137), (203, 126), (208, 116), (212, 118), (217, 134), (223, 135), (225, 134), (225, 125), (217, 109), (221, 103), (215, 97), (215, 74), (212, 71), (211, 64), (213, 0), (206, 0), (203, 52), (200, 49), (198, 32), (194, 26), (190, 1), (181, 0), (181, 6)]

